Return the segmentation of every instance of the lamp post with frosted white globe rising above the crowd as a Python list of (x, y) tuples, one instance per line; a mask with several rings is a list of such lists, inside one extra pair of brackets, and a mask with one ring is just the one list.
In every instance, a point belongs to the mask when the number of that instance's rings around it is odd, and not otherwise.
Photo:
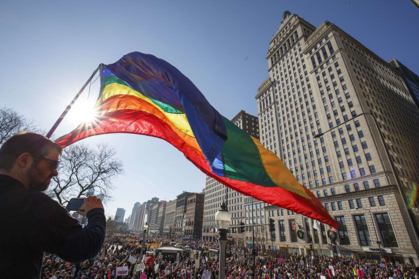
[(225, 276), (225, 246), (227, 244), (227, 232), (230, 226), (231, 215), (227, 211), (225, 203), (222, 202), (221, 208), (215, 213), (215, 226), (219, 233), (219, 269), (218, 279), (224, 279)]

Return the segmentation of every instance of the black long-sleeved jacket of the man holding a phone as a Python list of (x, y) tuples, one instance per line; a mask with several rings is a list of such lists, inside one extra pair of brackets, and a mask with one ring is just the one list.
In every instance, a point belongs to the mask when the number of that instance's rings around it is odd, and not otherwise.
[(43, 252), (68, 262), (93, 258), (105, 238), (104, 210), (88, 212), (84, 228), (48, 195), (0, 174), (0, 278), (39, 279)]

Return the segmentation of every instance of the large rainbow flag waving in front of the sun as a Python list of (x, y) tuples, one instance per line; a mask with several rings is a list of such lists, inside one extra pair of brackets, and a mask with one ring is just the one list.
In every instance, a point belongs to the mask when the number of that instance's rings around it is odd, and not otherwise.
[(320, 201), (284, 163), (221, 116), (178, 69), (153, 55), (133, 52), (100, 69), (96, 121), (57, 139), (131, 133), (164, 139), (207, 175), (256, 199), (338, 228)]

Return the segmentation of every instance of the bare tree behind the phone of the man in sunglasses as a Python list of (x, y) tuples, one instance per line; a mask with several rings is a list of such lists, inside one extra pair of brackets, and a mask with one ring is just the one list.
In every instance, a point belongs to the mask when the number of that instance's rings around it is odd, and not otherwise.
[(112, 181), (123, 172), (115, 149), (98, 144), (90, 147), (79, 143), (68, 146), (60, 157), (58, 176), (53, 177), (46, 193), (65, 205), (71, 198), (85, 197), (93, 192), (103, 195), (103, 202), (111, 199)]

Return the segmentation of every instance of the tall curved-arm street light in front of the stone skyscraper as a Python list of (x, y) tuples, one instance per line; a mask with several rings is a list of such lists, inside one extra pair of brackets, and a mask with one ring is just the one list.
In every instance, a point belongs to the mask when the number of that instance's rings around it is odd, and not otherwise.
[[(413, 231), (415, 232), (416, 241), (417, 241), (417, 243), (419, 243), (419, 236), (418, 236), (419, 235), (419, 232), (418, 232), (418, 228), (415, 226), (415, 221), (413, 219), (412, 212), (408, 209), (408, 207), (406, 205), (406, 198), (405, 198), (405, 194), (404, 194), (404, 192), (402, 190), (402, 185), (400, 183), (399, 174), (396, 171), (396, 167), (394, 166), (392, 157), (390, 156), (389, 149), (387, 148), (387, 144), (384, 141), (383, 134), (381, 133), (381, 130), (378, 127), (377, 120), (376, 120), (375, 116), (373, 114), (371, 114), (371, 113), (361, 113), (361, 114), (359, 114), (359, 115), (357, 115), (357, 116), (355, 116), (355, 117), (353, 117), (353, 118), (351, 118), (351, 119), (349, 119), (349, 120), (347, 120), (347, 121), (345, 121), (345, 122), (343, 122), (343, 123), (341, 123), (341, 124), (339, 124), (339, 125), (331, 128), (331, 129), (327, 130), (326, 132), (319, 133), (319, 134), (315, 135), (314, 138), (316, 138), (316, 139), (317, 138), (320, 138), (325, 133), (330, 132), (333, 129), (336, 129), (339, 126), (342, 126), (342, 125), (344, 125), (344, 124), (346, 124), (346, 123), (348, 123), (348, 122), (350, 122), (350, 121), (354, 120), (355, 118), (358, 118), (358, 117), (360, 117), (362, 115), (370, 116), (373, 119), (374, 125), (375, 125), (375, 127), (376, 127), (376, 129), (378, 131), (379, 136), (380, 136), (381, 143), (383, 144), (384, 150), (386, 151), (386, 156), (387, 156), (387, 158), (389, 160), (389, 163), (390, 163), (390, 166), (391, 166), (391, 169), (392, 169), (392, 172), (393, 172), (393, 176), (394, 176), (394, 178), (396, 180), (397, 188), (399, 190), (400, 195), (402, 196), (404, 208), (405, 208), (406, 212), (408, 213), (410, 224), (413, 227)], [(382, 156), (381, 156), (381, 160), (383, 161), (383, 157)], [(384, 165), (384, 162), (383, 162), (383, 165)], [(373, 220), (373, 222), (374, 222), (374, 220)]]

